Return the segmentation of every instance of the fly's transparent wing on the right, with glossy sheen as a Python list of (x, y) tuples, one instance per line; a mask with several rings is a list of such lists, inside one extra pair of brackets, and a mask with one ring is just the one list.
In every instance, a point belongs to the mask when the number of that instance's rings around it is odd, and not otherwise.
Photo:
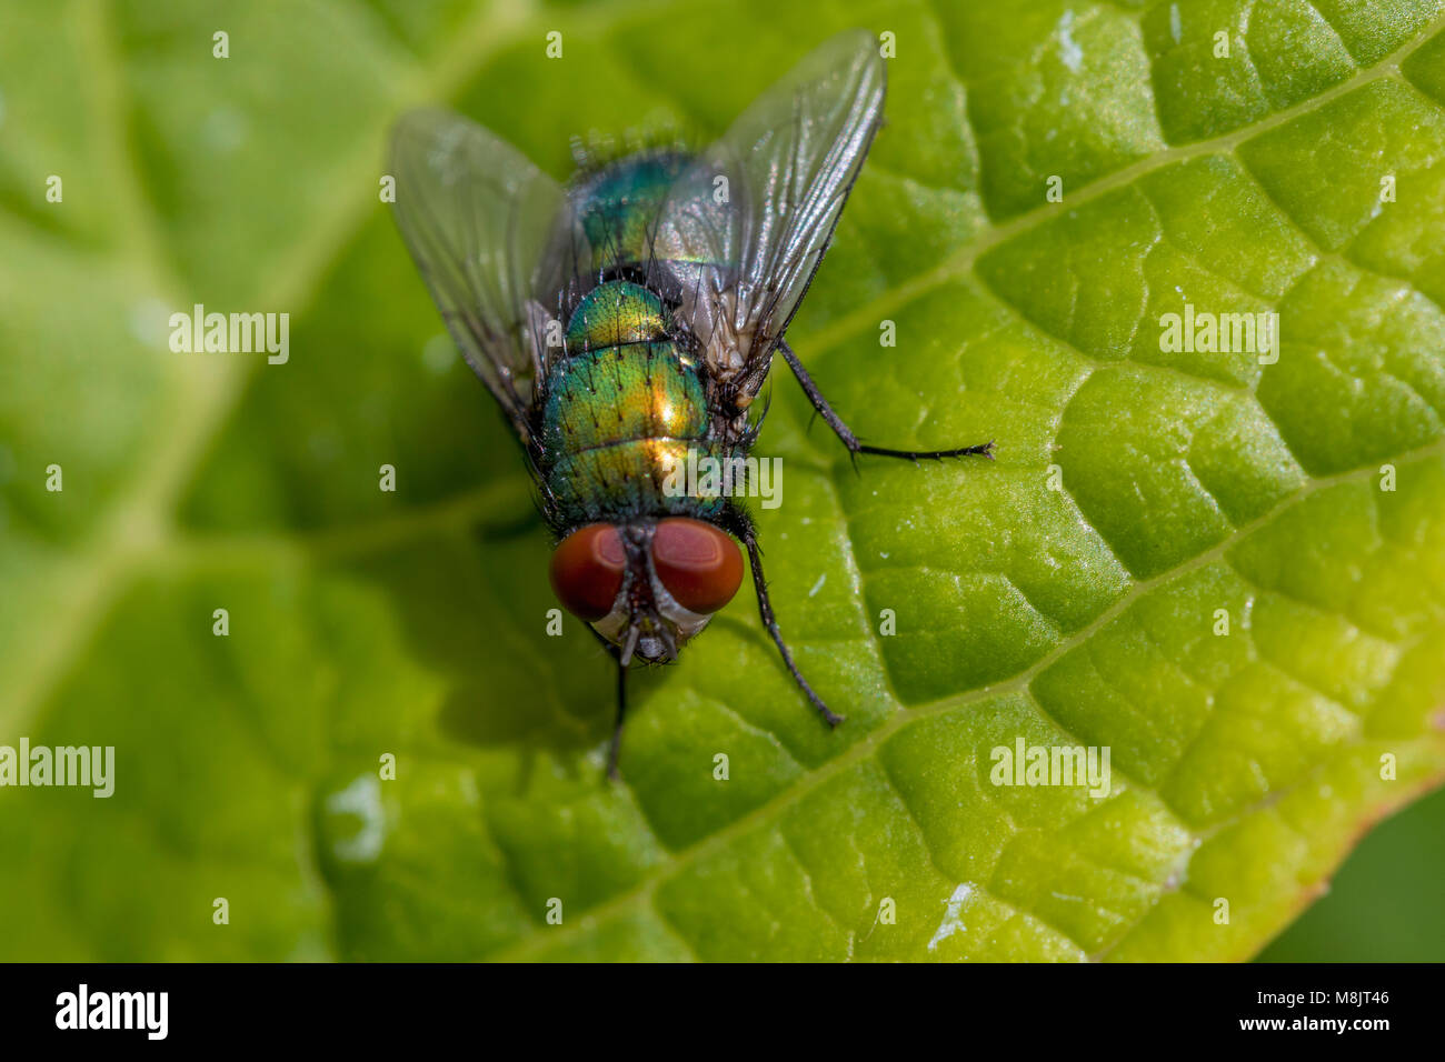
[(714, 371), (741, 394), (757, 393), (828, 250), (883, 94), (877, 40), (840, 33), (759, 97), (672, 189), (655, 254), (685, 263), (675, 267), (683, 314)]

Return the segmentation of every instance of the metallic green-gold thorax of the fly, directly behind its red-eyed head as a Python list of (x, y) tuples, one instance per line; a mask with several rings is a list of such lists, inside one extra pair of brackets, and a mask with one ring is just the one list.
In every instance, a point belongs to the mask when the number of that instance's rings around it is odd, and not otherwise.
[(662, 303), (611, 282), (572, 314), (566, 355), (548, 376), (542, 407), (543, 483), (568, 523), (629, 516), (699, 516), (718, 498), (669, 491), (688, 449), (712, 454), (707, 390), (666, 338)]

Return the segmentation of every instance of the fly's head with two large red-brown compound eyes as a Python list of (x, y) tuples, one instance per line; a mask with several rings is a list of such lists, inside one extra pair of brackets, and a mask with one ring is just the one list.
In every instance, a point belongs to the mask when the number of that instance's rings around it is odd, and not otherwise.
[(590, 523), (552, 553), (552, 590), (633, 657), (665, 663), (701, 631), (743, 582), (743, 552), (725, 532), (672, 516), (623, 524)]

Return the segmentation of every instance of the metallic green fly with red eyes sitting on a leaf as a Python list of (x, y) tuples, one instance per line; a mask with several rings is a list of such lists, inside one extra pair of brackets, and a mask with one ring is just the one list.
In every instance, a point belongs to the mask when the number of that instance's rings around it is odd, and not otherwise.
[(818, 714), (777, 627), (757, 530), (724, 493), (668, 488), (696, 455), (738, 461), (780, 354), (850, 455), (991, 457), (864, 445), (783, 338), (822, 262), (883, 116), (873, 38), (841, 33), (699, 153), (650, 149), (568, 184), (455, 114), (393, 134), (396, 220), (462, 357), (500, 403), (556, 538), (551, 579), (617, 662), (617, 773), (627, 670), (676, 659), (737, 592), (747, 553), (759, 613)]

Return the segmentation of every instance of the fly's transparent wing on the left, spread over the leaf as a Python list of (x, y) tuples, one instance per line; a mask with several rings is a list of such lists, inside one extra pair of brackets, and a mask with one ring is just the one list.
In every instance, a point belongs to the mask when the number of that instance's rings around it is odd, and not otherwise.
[(412, 111), (392, 134), (396, 223), (467, 364), (523, 444), (546, 368), (539, 259), (562, 188), (460, 114)]

